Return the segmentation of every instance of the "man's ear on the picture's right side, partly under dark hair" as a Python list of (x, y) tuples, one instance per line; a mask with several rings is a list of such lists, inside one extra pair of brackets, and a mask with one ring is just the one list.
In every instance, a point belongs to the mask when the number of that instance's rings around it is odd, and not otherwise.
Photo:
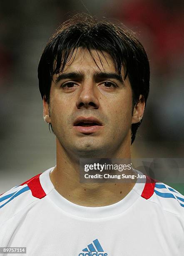
[(144, 108), (145, 108), (144, 96), (140, 95), (139, 101), (134, 106), (134, 112), (132, 115), (132, 123), (140, 122), (140, 120), (142, 119), (143, 114), (144, 114)]

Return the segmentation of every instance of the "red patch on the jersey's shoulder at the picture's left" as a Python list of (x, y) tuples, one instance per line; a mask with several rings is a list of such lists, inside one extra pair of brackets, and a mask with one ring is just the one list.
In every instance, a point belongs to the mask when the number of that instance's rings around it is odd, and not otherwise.
[(26, 182), (23, 182), (22, 184), (20, 184), (20, 186), (27, 184), (27, 186), (31, 190), (33, 197), (37, 197), (39, 199), (46, 196), (45, 191), (43, 190), (43, 188), (40, 184), (40, 174), (37, 174), (36, 176), (32, 177), (31, 179), (28, 179)]

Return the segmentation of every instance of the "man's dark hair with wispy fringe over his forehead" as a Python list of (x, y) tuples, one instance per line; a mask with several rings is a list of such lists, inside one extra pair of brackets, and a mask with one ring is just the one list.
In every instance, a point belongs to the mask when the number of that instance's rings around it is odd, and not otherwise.
[[(39, 89), (42, 99), (45, 97), (48, 105), (53, 75), (63, 72), (65, 64), (78, 47), (87, 49), (91, 56), (92, 49), (110, 54), (115, 70), (120, 76), (122, 65), (124, 65), (124, 79), (128, 77), (132, 87), (133, 108), (139, 101), (140, 95), (143, 95), (146, 103), (149, 93), (149, 61), (142, 44), (134, 37), (134, 33), (124, 28), (121, 23), (97, 20), (88, 14), (77, 14), (57, 29), (48, 41), (40, 59)], [(54, 67), (55, 60), (57, 62)], [(132, 143), (140, 124), (141, 121), (132, 124)]]

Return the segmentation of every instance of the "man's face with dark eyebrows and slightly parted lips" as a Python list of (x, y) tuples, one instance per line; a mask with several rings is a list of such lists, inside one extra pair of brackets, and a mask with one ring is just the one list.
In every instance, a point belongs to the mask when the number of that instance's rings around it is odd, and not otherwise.
[[(132, 89), (128, 79), (120, 80), (109, 54), (94, 50), (92, 54), (96, 64), (86, 49), (75, 50), (62, 74), (53, 76), (50, 122), (66, 151), (78, 157), (112, 157), (123, 145), (130, 145)], [(95, 118), (97, 123), (83, 118)]]

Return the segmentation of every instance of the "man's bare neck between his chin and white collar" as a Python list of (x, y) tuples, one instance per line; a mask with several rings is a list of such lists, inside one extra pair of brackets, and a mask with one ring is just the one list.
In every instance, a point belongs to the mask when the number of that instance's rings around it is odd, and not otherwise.
[[(130, 143), (123, 145), (112, 158), (130, 159)], [(79, 158), (75, 158), (64, 150), (59, 141), (56, 142), (57, 162), (50, 179), (57, 192), (70, 202), (87, 207), (112, 205), (122, 200), (133, 188), (134, 182), (124, 183), (80, 183)], [(126, 148), (126, 151), (124, 151)], [(129, 148), (129, 150), (127, 150)], [(101, 156), (105, 158), (107, 156)], [(128, 174), (133, 174), (131, 170)]]

